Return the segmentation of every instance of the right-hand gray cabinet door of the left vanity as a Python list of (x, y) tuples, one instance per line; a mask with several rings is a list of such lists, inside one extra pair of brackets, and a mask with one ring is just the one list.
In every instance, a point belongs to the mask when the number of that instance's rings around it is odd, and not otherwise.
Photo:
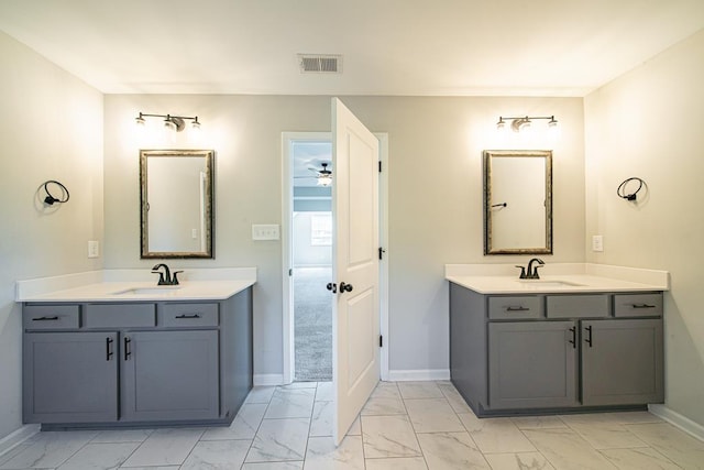
[(134, 331), (124, 341), (121, 419), (218, 417), (218, 331)]

